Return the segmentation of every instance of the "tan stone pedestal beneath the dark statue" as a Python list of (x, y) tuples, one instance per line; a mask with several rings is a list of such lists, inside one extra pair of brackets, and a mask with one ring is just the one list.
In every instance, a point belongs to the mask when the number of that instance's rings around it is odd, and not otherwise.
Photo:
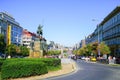
[(33, 50), (30, 50), (30, 55), (29, 57), (31, 58), (41, 58), (43, 57), (43, 51), (40, 48), (40, 41), (35, 41), (33, 45)]

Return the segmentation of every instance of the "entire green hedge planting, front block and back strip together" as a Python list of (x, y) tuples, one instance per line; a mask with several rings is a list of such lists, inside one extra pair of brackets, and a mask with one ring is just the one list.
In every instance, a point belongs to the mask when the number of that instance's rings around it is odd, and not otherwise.
[(28, 77), (45, 74), (61, 68), (60, 59), (52, 58), (13, 58), (2, 65), (2, 79)]

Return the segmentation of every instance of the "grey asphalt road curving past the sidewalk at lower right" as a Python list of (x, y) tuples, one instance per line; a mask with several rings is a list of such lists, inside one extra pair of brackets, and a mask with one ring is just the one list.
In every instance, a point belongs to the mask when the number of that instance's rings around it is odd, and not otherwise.
[(77, 71), (45, 80), (120, 80), (120, 67), (78, 60)]

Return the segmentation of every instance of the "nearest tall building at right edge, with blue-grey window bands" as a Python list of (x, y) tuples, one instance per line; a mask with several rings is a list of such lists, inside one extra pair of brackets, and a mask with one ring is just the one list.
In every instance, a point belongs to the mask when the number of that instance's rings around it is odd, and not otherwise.
[(113, 56), (120, 56), (120, 6), (116, 7), (101, 22), (103, 41), (110, 46)]

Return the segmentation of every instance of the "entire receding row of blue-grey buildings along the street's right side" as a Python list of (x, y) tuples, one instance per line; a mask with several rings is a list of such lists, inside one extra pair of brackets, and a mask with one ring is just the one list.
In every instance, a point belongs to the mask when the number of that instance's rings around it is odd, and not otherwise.
[(112, 56), (120, 56), (120, 6), (117, 6), (86, 38), (86, 43), (105, 42)]

